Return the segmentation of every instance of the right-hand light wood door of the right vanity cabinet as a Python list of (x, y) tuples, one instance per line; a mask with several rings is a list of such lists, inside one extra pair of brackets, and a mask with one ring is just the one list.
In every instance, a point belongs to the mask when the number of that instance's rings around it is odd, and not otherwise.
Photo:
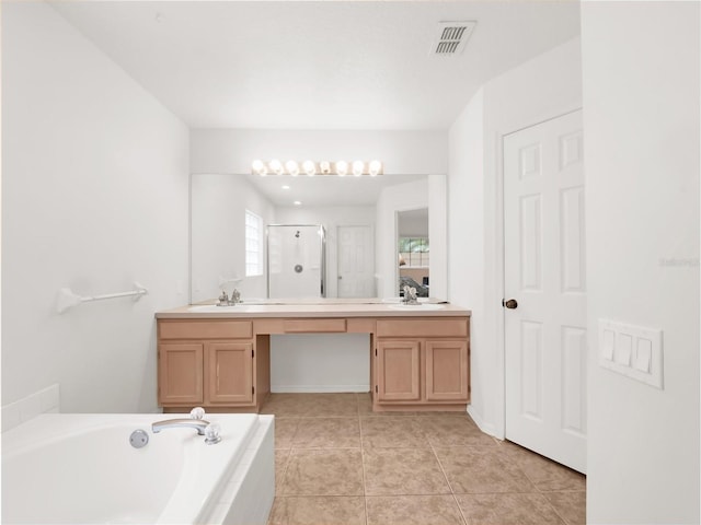
[(426, 400), (468, 400), (468, 343), (466, 341), (425, 342)]

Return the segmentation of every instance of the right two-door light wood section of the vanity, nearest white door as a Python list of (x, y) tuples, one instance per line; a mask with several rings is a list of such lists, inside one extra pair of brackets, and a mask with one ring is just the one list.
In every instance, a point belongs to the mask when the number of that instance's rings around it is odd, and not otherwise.
[(467, 318), (378, 320), (376, 406), (464, 406), (470, 397), (469, 348)]

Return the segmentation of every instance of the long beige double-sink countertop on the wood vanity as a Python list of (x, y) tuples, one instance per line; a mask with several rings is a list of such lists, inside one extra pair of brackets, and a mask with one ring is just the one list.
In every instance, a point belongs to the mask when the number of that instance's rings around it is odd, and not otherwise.
[(265, 318), (265, 317), (464, 317), (470, 311), (453, 304), (427, 301), (403, 305), (399, 300), (314, 299), (255, 300), (234, 306), (216, 306), (207, 301), (156, 313), (159, 319)]

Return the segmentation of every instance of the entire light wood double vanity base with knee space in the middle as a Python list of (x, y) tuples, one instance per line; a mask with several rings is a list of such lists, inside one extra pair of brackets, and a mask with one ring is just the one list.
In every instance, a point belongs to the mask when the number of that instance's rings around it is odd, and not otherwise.
[(388, 315), (390, 307), (378, 305), (378, 315), (372, 315), (372, 305), (336, 307), (336, 315), (303, 305), (251, 317), (161, 314), (157, 317), (159, 405), (164, 412), (195, 406), (258, 412), (271, 392), (272, 335), (369, 334), (374, 410), (466, 409), (469, 312), (446, 307), (446, 315)]

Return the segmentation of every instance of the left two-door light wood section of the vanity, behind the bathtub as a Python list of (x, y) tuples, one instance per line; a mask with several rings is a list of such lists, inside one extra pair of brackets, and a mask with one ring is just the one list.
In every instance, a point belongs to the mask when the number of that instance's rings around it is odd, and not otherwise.
[(257, 411), (269, 389), (268, 352), (268, 339), (254, 337), (251, 320), (159, 319), (159, 405), (164, 411), (198, 405)]

